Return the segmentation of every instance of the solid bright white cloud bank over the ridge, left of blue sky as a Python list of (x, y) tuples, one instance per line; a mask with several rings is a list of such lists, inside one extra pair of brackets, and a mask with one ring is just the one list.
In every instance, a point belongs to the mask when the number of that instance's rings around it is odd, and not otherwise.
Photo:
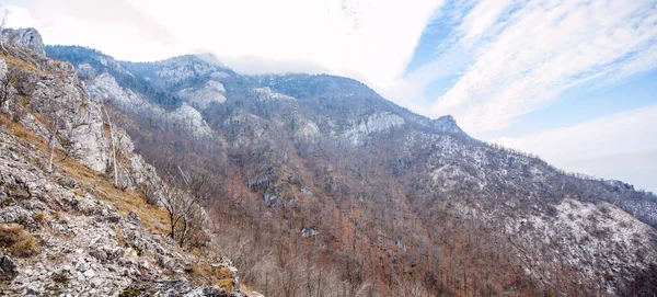
[(10, 25), (32, 25), (46, 43), (85, 45), (119, 59), (211, 52), (229, 66), (237, 61), (238, 71), (270, 60), (267, 71), (327, 69), (381, 87), (402, 75), (442, 2), (33, 0), (14, 7), (13, 14), (24, 15), (12, 15)]

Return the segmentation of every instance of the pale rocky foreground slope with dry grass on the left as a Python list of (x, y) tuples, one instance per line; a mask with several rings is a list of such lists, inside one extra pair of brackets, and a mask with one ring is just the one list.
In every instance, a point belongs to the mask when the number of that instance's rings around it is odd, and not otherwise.
[(245, 296), (230, 260), (165, 236), (168, 213), (142, 194), (163, 182), (73, 67), (34, 30), (2, 37), (2, 295)]

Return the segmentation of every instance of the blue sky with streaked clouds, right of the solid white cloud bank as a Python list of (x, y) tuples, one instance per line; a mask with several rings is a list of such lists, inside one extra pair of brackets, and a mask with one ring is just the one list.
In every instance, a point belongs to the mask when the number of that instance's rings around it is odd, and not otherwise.
[(447, 1), (415, 108), (568, 171), (657, 190), (657, 1)]

